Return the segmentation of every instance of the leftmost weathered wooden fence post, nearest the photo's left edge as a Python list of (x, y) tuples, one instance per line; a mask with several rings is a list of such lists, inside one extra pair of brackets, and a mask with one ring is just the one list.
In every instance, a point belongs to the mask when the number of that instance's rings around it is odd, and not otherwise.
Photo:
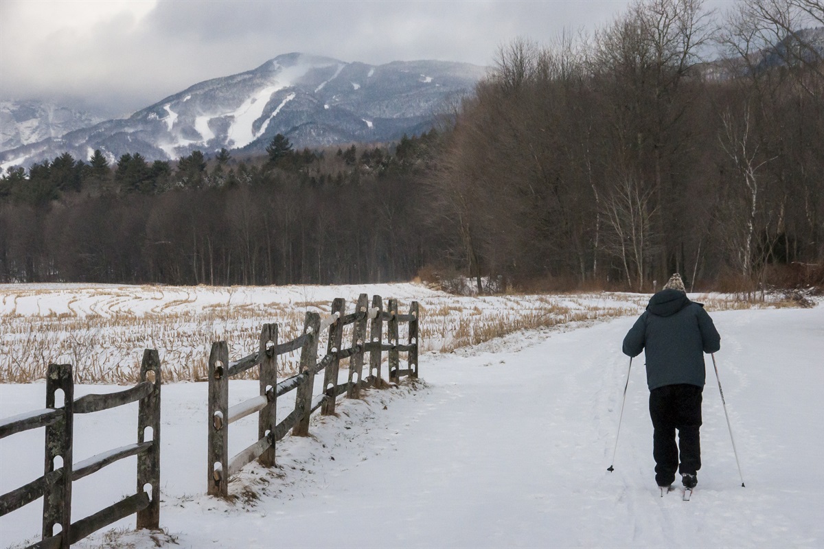
[(46, 427), (44, 475), (54, 471), (54, 459), (63, 460), (63, 475), (47, 482), (43, 491), (43, 539), (54, 536), (59, 524), (60, 547), (69, 547), (72, 525), (72, 434), (74, 426), (74, 379), (72, 365), (49, 364), (46, 375), (46, 407), (56, 408), (55, 393), (63, 391), (63, 416)]

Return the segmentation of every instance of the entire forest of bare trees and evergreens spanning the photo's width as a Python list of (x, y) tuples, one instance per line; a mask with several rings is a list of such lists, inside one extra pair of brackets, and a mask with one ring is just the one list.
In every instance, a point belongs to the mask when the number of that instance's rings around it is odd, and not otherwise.
[(399, 142), (297, 151), (279, 135), (261, 157), (96, 151), (12, 168), (0, 281), (460, 274), (481, 291), (649, 291), (671, 272), (695, 290), (822, 277), (822, 27), (814, 0), (638, 0), (592, 34), (499, 46), (438, 128)]

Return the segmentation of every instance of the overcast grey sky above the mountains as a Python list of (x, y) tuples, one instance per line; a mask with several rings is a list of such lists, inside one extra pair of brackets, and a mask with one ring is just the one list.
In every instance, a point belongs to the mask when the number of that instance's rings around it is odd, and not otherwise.
[(73, 95), (127, 114), (289, 52), (489, 65), (501, 44), (592, 30), (629, 3), (0, 0), (0, 99)]

